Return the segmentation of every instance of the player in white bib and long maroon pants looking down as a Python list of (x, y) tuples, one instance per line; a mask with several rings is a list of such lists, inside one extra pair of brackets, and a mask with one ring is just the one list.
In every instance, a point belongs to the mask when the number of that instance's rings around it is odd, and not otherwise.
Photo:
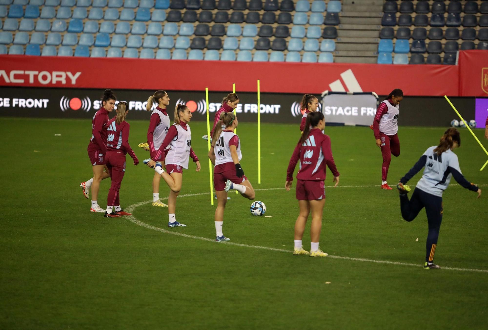
[(403, 100), (403, 91), (393, 89), (380, 103), (374, 121), (370, 128), (374, 131), (376, 146), (381, 148), (383, 165), (381, 167), (381, 188), (391, 190), (386, 183), (388, 168), (391, 163), (391, 155), (400, 156), (400, 140), (398, 140), (398, 113), (400, 112), (400, 102)]

